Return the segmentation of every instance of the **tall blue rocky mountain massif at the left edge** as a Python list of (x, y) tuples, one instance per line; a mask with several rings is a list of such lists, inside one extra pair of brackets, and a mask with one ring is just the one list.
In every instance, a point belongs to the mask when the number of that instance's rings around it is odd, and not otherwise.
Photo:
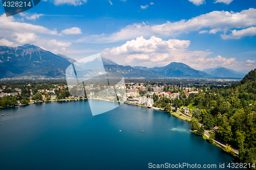
[(31, 44), (17, 47), (0, 46), (0, 54), (0, 78), (63, 77), (65, 69), (71, 64), (65, 57)]

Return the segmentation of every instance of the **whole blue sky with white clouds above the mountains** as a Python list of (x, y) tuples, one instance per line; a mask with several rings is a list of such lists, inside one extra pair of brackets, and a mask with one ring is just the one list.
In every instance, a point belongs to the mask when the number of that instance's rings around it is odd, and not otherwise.
[(74, 59), (101, 53), (132, 66), (256, 68), (254, 0), (53, 0), (0, 14), (0, 45), (30, 43)]

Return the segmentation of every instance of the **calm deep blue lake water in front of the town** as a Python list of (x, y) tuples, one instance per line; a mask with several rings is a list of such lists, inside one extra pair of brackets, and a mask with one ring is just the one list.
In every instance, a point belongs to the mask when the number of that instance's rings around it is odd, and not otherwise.
[[(99, 108), (110, 104), (93, 102)], [(87, 100), (80, 100), (0, 113), (0, 169), (150, 169), (148, 163), (216, 164), (216, 169), (225, 163), (230, 169), (227, 163), (234, 162), (191, 133), (190, 123), (163, 111), (123, 104), (92, 116)]]

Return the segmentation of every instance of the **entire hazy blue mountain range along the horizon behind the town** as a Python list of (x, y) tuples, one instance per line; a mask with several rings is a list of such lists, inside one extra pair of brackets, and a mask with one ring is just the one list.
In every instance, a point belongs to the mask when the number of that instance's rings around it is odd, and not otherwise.
[[(120, 72), (126, 78), (242, 78), (244, 73), (224, 67), (215, 67), (203, 71), (190, 66), (172, 62), (163, 67), (123, 66), (101, 57), (105, 71)], [(96, 59), (95, 59), (96, 60)], [(0, 78), (7, 77), (46, 77), (65, 78), (65, 70), (76, 62), (65, 54), (53, 54), (42, 48), (25, 44), (23, 46), (0, 46)], [(90, 61), (91, 64), (97, 61)]]

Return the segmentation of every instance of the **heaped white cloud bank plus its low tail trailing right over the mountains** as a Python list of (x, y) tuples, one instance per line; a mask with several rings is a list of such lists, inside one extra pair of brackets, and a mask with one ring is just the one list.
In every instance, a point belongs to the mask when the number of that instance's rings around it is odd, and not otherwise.
[[(165, 41), (155, 36), (150, 39), (141, 36), (127, 41), (121, 46), (105, 48), (101, 55), (113, 59), (119, 64), (127, 63), (132, 66), (155, 67), (165, 66), (170, 62), (182, 62), (200, 70), (218, 65), (227, 68), (245, 67), (245, 63), (236, 61), (236, 58), (222, 56), (207, 58), (212, 54), (211, 52), (189, 51), (187, 50), (189, 45), (189, 40), (169, 39)], [(252, 62), (247, 63), (251, 64)]]

